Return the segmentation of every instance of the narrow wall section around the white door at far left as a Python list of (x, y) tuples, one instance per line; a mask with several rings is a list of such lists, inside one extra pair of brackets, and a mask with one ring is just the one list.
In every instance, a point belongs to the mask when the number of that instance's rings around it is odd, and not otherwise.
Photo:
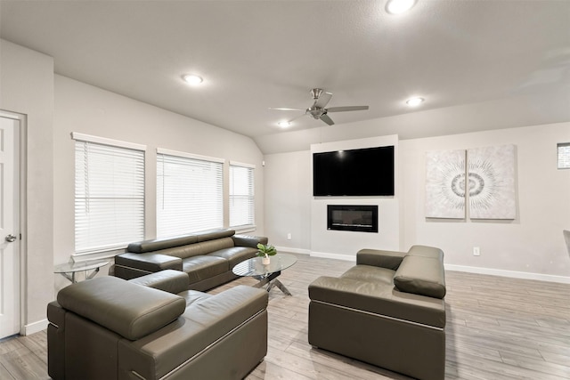
[(53, 59), (0, 40), (0, 109), (27, 115), (23, 333), (45, 328), (53, 300)]

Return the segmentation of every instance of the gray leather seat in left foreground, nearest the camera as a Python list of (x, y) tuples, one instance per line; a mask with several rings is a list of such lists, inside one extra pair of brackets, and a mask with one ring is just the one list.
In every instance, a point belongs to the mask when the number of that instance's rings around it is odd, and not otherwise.
[(47, 306), (54, 380), (241, 379), (267, 352), (267, 292), (188, 290), (181, 271), (64, 287)]

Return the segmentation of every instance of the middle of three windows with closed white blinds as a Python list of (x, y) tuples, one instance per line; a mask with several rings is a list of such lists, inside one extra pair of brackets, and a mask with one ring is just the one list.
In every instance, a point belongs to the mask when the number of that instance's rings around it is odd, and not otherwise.
[(157, 236), (224, 227), (224, 160), (157, 150)]

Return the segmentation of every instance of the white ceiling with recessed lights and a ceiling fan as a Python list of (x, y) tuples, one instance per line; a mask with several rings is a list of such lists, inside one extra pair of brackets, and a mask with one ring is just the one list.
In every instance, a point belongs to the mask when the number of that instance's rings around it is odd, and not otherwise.
[[(52, 56), (57, 74), (258, 143), (299, 115), (269, 108), (305, 109), (313, 87), (330, 107), (370, 106), (330, 114), (332, 128), (485, 104), (485, 125), (461, 132), (570, 120), (570, 1), (418, 0), (399, 16), (385, 3), (1, 0), (0, 36)], [(426, 101), (409, 109), (411, 96)], [(288, 131), (316, 127), (305, 116)], [(450, 131), (407, 137), (437, 133)]]

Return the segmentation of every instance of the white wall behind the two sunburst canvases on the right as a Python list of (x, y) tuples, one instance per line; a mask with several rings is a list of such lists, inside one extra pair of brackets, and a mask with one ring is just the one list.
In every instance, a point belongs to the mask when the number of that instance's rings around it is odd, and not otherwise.
[[(570, 229), (570, 170), (557, 169), (557, 143), (568, 141), (570, 123), (400, 141), (403, 246), (441, 247), (445, 263), (459, 266), (457, 269), (467, 266), (498, 274), (520, 271), (570, 277), (570, 257), (562, 238), (562, 230)], [(517, 146), (516, 220), (436, 221), (424, 217), (427, 150), (501, 144)], [(481, 248), (480, 256), (473, 255), (473, 247)]]

